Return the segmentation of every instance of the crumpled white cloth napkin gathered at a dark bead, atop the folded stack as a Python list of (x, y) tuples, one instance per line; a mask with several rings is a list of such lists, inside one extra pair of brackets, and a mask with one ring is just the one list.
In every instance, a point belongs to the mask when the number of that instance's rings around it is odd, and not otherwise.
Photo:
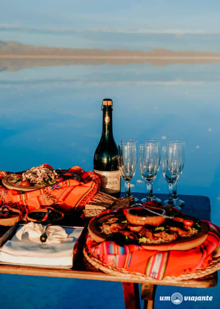
[(19, 240), (22, 240), (22, 235), (28, 233), (28, 238), (31, 241), (45, 245), (73, 241), (73, 237), (68, 237), (68, 234), (64, 228), (59, 225), (50, 225), (46, 230), (46, 234), (48, 236), (46, 242), (42, 243), (40, 237), (45, 232), (45, 228), (46, 226), (42, 226), (42, 224), (30, 222), (18, 230), (15, 235)]

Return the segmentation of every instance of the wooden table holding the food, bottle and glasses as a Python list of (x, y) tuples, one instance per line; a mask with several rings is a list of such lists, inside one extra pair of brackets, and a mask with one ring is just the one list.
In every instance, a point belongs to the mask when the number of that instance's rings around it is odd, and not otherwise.
[[(144, 193), (134, 193), (138, 198), (145, 197)], [(167, 198), (165, 194), (157, 194), (157, 197), (161, 198), (162, 201)], [(205, 196), (194, 196), (194, 195), (179, 195), (185, 206), (182, 211), (191, 216), (199, 219), (210, 220), (210, 200)], [(141, 280), (126, 279), (122, 280), (121, 277), (109, 275), (94, 269), (91, 265), (83, 260), (82, 250), (80, 250), (77, 259), (74, 262), (73, 269), (45, 269), (35, 268), (27, 266), (14, 266), (14, 265), (0, 265), (0, 273), (8, 274), (20, 274), (20, 275), (31, 275), (31, 276), (46, 276), (46, 277), (64, 277), (64, 278), (78, 278), (78, 279), (92, 279), (101, 281), (119, 281), (122, 282), (124, 300), (126, 308), (140, 308), (140, 297), (138, 283), (141, 283), (141, 297), (144, 299), (144, 308), (154, 307), (154, 295), (156, 285), (152, 284), (149, 279), (149, 283)], [(200, 287), (208, 288), (217, 284), (217, 273), (213, 273), (209, 276), (199, 278), (183, 280), (178, 282), (171, 282), (170, 286), (185, 286), (185, 287)], [(158, 285), (165, 285), (158, 281)], [(168, 285), (168, 284), (166, 284)]]

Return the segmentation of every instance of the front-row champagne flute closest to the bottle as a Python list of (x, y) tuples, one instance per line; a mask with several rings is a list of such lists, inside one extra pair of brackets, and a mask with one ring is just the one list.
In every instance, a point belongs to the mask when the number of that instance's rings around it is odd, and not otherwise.
[[(132, 197), (130, 181), (135, 174), (137, 166), (137, 148), (135, 142), (121, 142), (118, 144), (118, 169), (125, 183), (125, 196)], [(138, 198), (134, 198), (138, 202)]]

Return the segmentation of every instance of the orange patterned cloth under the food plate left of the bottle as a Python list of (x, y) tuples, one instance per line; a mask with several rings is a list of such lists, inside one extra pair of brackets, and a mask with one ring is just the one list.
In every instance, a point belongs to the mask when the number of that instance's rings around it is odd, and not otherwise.
[[(44, 166), (53, 168), (48, 164)], [(79, 174), (81, 181), (64, 180), (26, 193), (0, 185), (0, 205), (9, 205), (22, 213), (47, 206), (64, 212), (70, 212), (73, 208), (81, 210), (99, 192), (100, 179), (93, 171), (84, 171), (79, 166), (71, 167), (66, 172)], [(7, 175), (8, 172), (0, 171), (0, 180)]]

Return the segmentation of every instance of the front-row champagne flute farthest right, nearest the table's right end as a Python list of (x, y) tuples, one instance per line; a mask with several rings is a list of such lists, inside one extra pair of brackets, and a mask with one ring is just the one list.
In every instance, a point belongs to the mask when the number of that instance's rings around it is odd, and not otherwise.
[(182, 148), (178, 144), (163, 145), (162, 170), (163, 176), (166, 179), (169, 187), (169, 197), (166, 205), (181, 209), (173, 201), (173, 186), (178, 180), (182, 166)]

